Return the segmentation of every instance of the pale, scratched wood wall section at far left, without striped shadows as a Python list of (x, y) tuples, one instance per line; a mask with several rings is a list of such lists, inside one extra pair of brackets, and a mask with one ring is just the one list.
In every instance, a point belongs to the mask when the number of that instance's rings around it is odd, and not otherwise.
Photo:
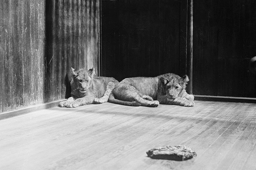
[(0, 8), (0, 112), (3, 112), (43, 102), (45, 2), (1, 0)]

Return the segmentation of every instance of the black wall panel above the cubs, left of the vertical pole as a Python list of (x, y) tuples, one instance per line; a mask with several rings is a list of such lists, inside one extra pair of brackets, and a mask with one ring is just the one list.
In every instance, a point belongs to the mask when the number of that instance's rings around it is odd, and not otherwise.
[(102, 1), (102, 75), (186, 74), (187, 1)]

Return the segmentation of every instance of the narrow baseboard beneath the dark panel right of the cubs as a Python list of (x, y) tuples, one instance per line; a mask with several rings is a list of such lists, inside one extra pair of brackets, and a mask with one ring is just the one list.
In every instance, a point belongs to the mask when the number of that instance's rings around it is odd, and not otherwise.
[(256, 98), (250, 98), (250, 97), (226, 97), (226, 96), (205, 96), (205, 95), (194, 95), (194, 97), (195, 97), (195, 100), (200, 100), (200, 101), (256, 103)]

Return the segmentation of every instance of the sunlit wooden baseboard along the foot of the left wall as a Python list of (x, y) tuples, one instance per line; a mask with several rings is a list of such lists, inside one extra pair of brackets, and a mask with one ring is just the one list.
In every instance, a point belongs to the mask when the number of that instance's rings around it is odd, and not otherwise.
[(24, 115), (24, 114), (35, 112), (42, 109), (52, 108), (52, 107), (58, 106), (60, 101), (64, 101), (64, 100), (52, 101), (49, 103), (33, 105), (33, 106), (24, 107), (16, 110), (11, 110), (8, 112), (2, 112), (0, 113), (0, 120), (8, 119), (8, 118), (19, 116), (19, 115)]

